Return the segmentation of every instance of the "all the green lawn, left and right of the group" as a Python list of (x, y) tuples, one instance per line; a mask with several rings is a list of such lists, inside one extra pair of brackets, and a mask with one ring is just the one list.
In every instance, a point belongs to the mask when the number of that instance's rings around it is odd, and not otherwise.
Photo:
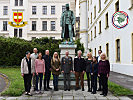
[[(1, 93), (1, 95), (6, 96), (21, 96), (24, 92), (24, 82), (23, 78), (20, 73), (20, 68), (1, 68), (0, 67), (0, 73), (3, 73), (8, 76), (10, 80), (10, 86), (8, 89), (6, 89), (4, 92)], [(85, 80), (87, 79), (86, 74), (84, 76)], [(53, 79), (51, 75), (51, 79)], [(119, 86), (113, 82), (108, 83), (109, 90), (115, 95), (115, 96), (129, 96), (133, 95), (133, 91), (126, 89), (122, 86)]]

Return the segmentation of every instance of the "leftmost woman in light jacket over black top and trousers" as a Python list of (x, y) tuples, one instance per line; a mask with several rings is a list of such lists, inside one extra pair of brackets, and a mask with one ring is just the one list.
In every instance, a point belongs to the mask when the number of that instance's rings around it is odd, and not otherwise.
[(30, 58), (30, 52), (26, 52), (26, 57), (21, 61), (21, 74), (24, 78), (25, 95), (32, 96), (30, 93), (32, 74), (34, 76), (35, 68), (33, 60)]

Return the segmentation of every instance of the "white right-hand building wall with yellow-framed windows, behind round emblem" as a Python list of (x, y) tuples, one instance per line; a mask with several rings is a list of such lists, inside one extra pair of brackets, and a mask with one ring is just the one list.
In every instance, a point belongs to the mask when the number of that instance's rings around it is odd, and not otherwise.
[[(114, 72), (133, 76), (133, 0), (85, 0), (88, 4), (88, 49), (106, 53)], [(81, 6), (81, 5), (80, 5)], [(122, 29), (112, 25), (112, 15), (124, 11), (129, 23)]]

